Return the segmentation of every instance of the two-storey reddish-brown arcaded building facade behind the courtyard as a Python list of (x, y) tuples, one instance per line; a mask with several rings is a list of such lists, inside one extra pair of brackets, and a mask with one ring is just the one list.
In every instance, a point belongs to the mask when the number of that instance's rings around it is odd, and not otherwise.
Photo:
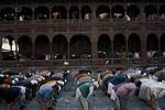
[(1, 61), (164, 56), (163, 1), (34, 1), (0, 3)]

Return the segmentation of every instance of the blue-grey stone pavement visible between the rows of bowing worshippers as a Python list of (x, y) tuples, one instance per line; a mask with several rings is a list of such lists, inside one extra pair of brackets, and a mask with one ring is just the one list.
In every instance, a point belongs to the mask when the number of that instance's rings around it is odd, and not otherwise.
[[(73, 74), (76, 70), (72, 72)], [(95, 76), (94, 76), (95, 77)], [(75, 100), (76, 84), (73, 79), (73, 75), (67, 77), (68, 82), (62, 89), (61, 95), (57, 98), (57, 103), (54, 106), (54, 110), (82, 110), (79, 101)], [(95, 95), (89, 100), (90, 110), (112, 110), (116, 106), (100, 89), (95, 90)], [(165, 110), (165, 97), (158, 99), (160, 110)], [(128, 110), (152, 110), (150, 106), (141, 101), (139, 98), (133, 97), (129, 100)], [(4, 106), (0, 106), (0, 110), (7, 110)], [(24, 110), (43, 110), (33, 99)]]

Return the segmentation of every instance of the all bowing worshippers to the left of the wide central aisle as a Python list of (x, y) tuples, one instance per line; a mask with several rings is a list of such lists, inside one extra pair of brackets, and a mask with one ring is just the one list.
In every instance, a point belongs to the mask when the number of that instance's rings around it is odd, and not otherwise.
[(22, 110), (35, 99), (45, 110), (52, 110), (54, 97), (66, 82), (66, 75), (67, 72), (53, 74), (48, 70), (24, 74), (1, 72), (0, 103), (9, 110)]

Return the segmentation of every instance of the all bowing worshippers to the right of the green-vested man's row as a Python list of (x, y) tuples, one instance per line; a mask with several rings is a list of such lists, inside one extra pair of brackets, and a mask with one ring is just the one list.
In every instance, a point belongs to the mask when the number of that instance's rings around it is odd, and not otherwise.
[(106, 70), (98, 76), (102, 90), (111, 100), (114, 100), (120, 110), (125, 109), (127, 100), (132, 96), (138, 96), (146, 103), (151, 103), (153, 109), (157, 109), (156, 98), (165, 96), (164, 80), (165, 70), (163, 70), (163, 66), (117, 70), (116, 73)]

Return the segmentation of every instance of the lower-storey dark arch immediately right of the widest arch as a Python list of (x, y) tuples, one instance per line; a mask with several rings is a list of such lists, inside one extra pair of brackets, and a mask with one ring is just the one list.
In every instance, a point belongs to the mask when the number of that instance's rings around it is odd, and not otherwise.
[(98, 38), (98, 58), (109, 57), (111, 53), (111, 40), (108, 35), (100, 35)]

